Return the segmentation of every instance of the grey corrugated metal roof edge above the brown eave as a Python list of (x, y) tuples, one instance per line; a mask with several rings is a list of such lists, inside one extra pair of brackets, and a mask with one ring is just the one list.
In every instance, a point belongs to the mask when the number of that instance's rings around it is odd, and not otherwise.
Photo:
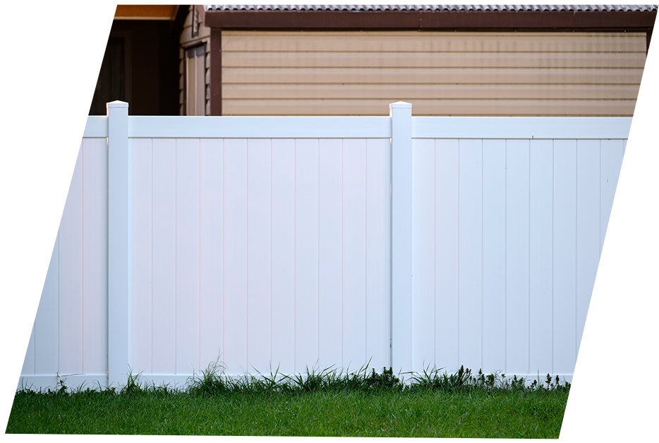
[(289, 4), (222, 4), (204, 5), (212, 11), (514, 11), (514, 12), (593, 12), (593, 11), (659, 11), (659, 4), (644, 5), (289, 5)]

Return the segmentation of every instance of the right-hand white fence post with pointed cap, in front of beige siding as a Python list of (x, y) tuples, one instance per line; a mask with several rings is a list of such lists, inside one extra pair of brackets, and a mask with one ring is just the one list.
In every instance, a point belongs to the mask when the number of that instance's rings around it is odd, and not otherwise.
[(412, 105), (389, 105), (392, 117), (392, 369), (412, 363)]

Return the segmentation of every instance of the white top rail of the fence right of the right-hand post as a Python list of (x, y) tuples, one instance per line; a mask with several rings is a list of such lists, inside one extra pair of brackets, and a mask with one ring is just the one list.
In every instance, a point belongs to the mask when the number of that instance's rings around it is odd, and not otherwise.
[(412, 117), (412, 138), (648, 139), (659, 119), (647, 117)]

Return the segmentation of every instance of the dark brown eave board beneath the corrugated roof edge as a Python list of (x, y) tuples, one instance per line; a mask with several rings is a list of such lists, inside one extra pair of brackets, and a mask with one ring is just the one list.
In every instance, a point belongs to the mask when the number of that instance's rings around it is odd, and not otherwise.
[(226, 30), (454, 30), (655, 28), (659, 11), (206, 11), (205, 25)]

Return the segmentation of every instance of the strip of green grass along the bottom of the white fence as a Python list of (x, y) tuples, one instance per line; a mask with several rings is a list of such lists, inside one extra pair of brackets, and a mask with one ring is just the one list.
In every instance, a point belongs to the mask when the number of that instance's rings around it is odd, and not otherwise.
[(439, 371), (5, 392), (5, 438), (659, 438), (659, 389)]

